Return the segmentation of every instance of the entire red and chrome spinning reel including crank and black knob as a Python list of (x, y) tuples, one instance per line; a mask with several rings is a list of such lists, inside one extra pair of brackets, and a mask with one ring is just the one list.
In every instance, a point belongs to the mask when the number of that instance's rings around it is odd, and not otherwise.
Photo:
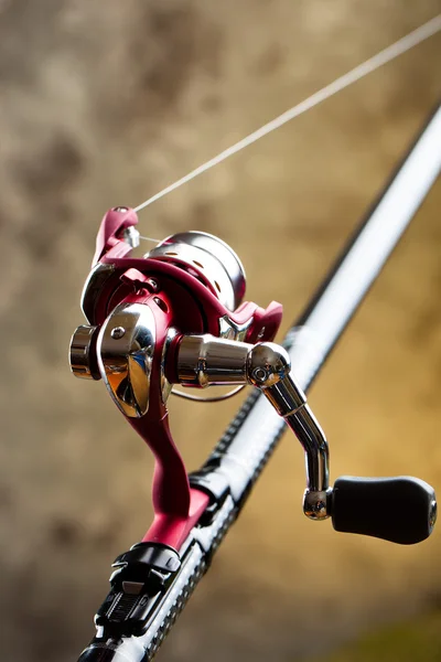
[[(337, 531), (397, 543), (428, 537), (437, 515), (432, 488), (416, 478), (344, 477), (329, 483), (329, 447), (289, 354), (271, 342), (282, 307), (243, 302), (245, 271), (220, 239), (201, 232), (172, 235), (143, 258), (133, 210), (104, 217), (83, 291), (87, 325), (76, 329), (71, 367), (103, 380), (112, 401), (155, 456), (154, 522), (143, 543), (179, 551), (215, 495), (192, 480), (173, 442), (166, 403), (174, 385), (252, 385), (269, 401), (305, 451), (303, 511), (332, 517)], [(294, 366), (295, 367), (295, 366)]]

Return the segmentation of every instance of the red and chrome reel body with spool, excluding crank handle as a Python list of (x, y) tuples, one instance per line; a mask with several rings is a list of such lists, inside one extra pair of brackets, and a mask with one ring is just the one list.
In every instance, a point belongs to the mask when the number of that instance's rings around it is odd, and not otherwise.
[[(204, 334), (238, 345), (270, 341), (282, 307), (272, 302), (265, 310), (241, 302), (246, 280), (239, 258), (206, 233), (175, 234), (144, 257), (131, 257), (139, 243), (137, 223), (128, 207), (112, 209), (103, 218), (82, 297), (88, 324), (73, 334), (71, 367), (78, 377), (104, 381), (153, 451), (155, 517), (143, 540), (179, 549), (208, 500), (190, 488), (169, 428), (172, 385), (204, 386), (176, 374), (180, 342)], [(203, 365), (200, 374), (205, 374)]]

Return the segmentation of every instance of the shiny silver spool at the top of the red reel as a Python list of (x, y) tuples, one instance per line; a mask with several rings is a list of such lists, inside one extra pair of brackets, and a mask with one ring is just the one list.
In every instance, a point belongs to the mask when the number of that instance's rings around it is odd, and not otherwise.
[(228, 310), (235, 310), (243, 300), (244, 266), (225, 242), (211, 234), (193, 231), (171, 235), (146, 257), (184, 264), (186, 270), (211, 285)]

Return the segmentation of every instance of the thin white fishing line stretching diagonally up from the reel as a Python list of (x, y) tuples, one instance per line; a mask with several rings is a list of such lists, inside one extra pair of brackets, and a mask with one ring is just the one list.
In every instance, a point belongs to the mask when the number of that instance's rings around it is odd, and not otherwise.
[(249, 145), (252, 145), (257, 140), (260, 140), (260, 138), (263, 138), (263, 136), (267, 136), (271, 131), (275, 131), (279, 127), (282, 127), (291, 119), (294, 119), (294, 117), (299, 117), (299, 115), (302, 115), (303, 113), (305, 113), (306, 110), (310, 110), (314, 106), (318, 106), (325, 99), (329, 99), (330, 97), (332, 97), (334, 94), (336, 94), (341, 89), (348, 87), (349, 85), (352, 85), (353, 83), (356, 83), (364, 76), (367, 76), (367, 74), (370, 74), (375, 70), (379, 68), (384, 64), (390, 62), (391, 60), (395, 60), (402, 53), (406, 53), (406, 51), (409, 51), (410, 49), (412, 49), (413, 46), (417, 46), (418, 44), (426, 41), (430, 36), (433, 36), (434, 34), (440, 32), (440, 30), (441, 30), (441, 14), (438, 14), (438, 17), (434, 17), (433, 19), (431, 19), (430, 21), (428, 21), (420, 28), (417, 28), (417, 30), (413, 30), (412, 32), (410, 32), (406, 36), (401, 38), (400, 40), (398, 40), (397, 42), (395, 42), (387, 49), (384, 49), (384, 51), (380, 51), (373, 57), (369, 57), (369, 60), (366, 60), (366, 62), (358, 64), (358, 66), (356, 66), (355, 68), (351, 70), (343, 76), (340, 76), (340, 78), (336, 78), (333, 83), (330, 83), (325, 87), (322, 87), (322, 89), (319, 89), (319, 92), (315, 92), (312, 96), (308, 97), (306, 99), (304, 99), (297, 106), (293, 106), (289, 110), (286, 110), (284, 113), (282, 113), (282, 115), (279, 115), (279, 117), (276, 117), (268, 124), (260, 127), (260, 129), (257, 129), (256, 131), (254, 131), (246, 138), (243, 138), (235, 145), (232, 145), (232, 147), (228, 147), (227, 149), (222, 151), (219, 154), (217, 154), (213, 159), (209, 159), (209, 161), (206, 161), (205, 163), (203, 163), (195, 170), (192, 170), (191, 172), (189, 172), (189, 174), (179, 179), (173, 184), (170, 184), (169, 186), (166, 186), (159, 193), (155, 193), (154, 195), (152, 195), (151, 197), (149, 197), (148, 200), (146, 200), (144, 202), (139, 204), (135, 209), (135, 211), (140, 212), (141, 210), (143, 210), (148, 205), (152, 204), (160, 197), (163, 197), (168, 193), (171, 193), (172, 191), (175, 191), (183, 184), (186, 184), (187, 182), (193, 180), (198, 174), (206, 172), (214, 166), (217, 166), (222, 161), (225, 161), (225, 159), (228, 159), (228, 157), (236, 154), (238, 151), (245, 149)]

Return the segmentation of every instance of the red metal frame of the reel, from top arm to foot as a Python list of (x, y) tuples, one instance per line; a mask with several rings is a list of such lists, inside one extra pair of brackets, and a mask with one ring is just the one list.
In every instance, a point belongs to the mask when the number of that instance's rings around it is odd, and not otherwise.
[[(180, 549), (190, 531), (208, 505), (208, 496), (189, 484), (187, 472), (169, 427), (169, 414), (161, 392), (161, 361), (170, 329), (176, 335), (168, 350), (166, 377), (176, 381), (173, 355), (183, 334), (219, 335), (219, 319), (228, 316), (238, 325), (249, 322), (245, 341), (272, 340), (280, 325), (282, 307), (272, 301), (265, 310), (246, 301), (230, 311), (218, 300), (217, 292), (197, 267), (187, 273), (180, 266), (158, 258), (133, 258), (130, 246), (121, 238), (123, 229), (138, 223), (132, 209), (117, 207), (104, 216), (96, 242), (93, 266), (111, 264), (96, 301), (90, 323), (99, 325), (119, 303), (149, 306), (155, 323), (155, 350), (152, 362), (149, 409), (128, 423), (148, 444), (155, 458), (153, 477), (154, 520), (143, 542), (163, 543)], [(166, 241), (165, 241), (166, 242)], [(149, 286), (154, 278), (160, 289)], [(245, 292), (243, 292), (245, 293)], [(260, 335), (259, 335), (260, 334)]]

